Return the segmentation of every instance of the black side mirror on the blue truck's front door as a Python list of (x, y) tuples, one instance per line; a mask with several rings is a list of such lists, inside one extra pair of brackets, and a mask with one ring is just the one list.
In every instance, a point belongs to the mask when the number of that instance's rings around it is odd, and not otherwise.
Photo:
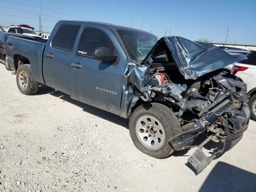
[(118, 55), (113, 55), (113, 51), (110, 48), (98, 47), (93, 50), (92, 57), (102, 61), (115, 62), (118, 59)]

